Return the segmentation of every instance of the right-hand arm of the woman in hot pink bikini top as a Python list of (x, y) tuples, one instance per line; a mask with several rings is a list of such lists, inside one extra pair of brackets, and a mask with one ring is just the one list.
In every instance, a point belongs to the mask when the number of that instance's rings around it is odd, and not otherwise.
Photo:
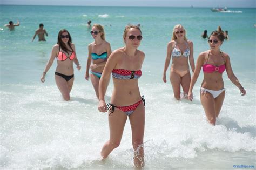
[(246, 94), (246, 91), (245, 91), (244, 87), (242, 87), (242, 85), (240, 84), (240, 82), (237, 79), (237, 77), (235, 76), (235, 74), (233, 73), (233, 70), (231, 67), (231, 62), (230, 62), (230, 56), (228, 56), (227, 54), (225, 54), (224, 56), (226, 58), (225, 67), (226, 67), (226, 71), (227, 71), (227, 76), (231, 80), (231, 82), (239, 88), (240, 92), (242, 93), (242, 96), (244, 96)]

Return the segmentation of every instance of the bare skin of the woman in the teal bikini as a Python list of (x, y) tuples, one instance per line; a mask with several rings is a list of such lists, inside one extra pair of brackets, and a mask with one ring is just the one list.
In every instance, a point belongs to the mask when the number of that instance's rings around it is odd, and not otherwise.
[[(93, 39), (95, 39), (94, 42), (88, 45), (88, 59), (87, 59), (87, 67), (86, 67), (86, 72), (85, 72), (85, 79), (89, 80), (91, 77), (91, 82), (93, 85), (93, 88), (95, 90), (97, 98), (99, 98), (99, 78), (95, 76), (94, 74), (90, 74), (89, 76), (89, 68), (93, 72), (99, 72), (102, 73), (104, 70), (104, 66), (107, 62), (107, 60), (104, 59), (97, 59), (97, 60), (92, 60), (91, 53), (96, 53), (98, 55), (101, 55), (103, 52), (107, 52), (107, 56), (111, 55), (111, 47), (108, 42), (100, 38), (100, 36), (103, 34), (103, 32), (99, 32), (99, 29), (96, 26), (92, 27), (92, 31), (97, 31), (98, 34), (95, 35), (94, 33), (92, 34)], [(91, 65), (92, 61), (92, 65)], [(110, 81), (110, 79), (109, 79)]]

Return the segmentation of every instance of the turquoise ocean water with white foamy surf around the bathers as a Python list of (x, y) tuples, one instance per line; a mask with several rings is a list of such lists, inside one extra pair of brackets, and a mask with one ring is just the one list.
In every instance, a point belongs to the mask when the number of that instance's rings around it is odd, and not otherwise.
[[(100, 150), (109, 139), (107, 114), (97, 110), (90, 81), (84, 79), (87, 44), (92, 42), (86, 23), (104, 25), (112, 50), (122, 47), (128, 23), (142, 26), (145, 52), (140, 92), (146, 99), (145, 169), (233, 169), (233, 165), (255, 165), (255, 8), (136, 8), (86, 6), (0, 5), (0, 167), (1, 169), (106, 169), (133, 168), (129, 121), (122, 142), (105, 161)], [(21, 25), (8, 31), (10, 20)], [(46, 42), (32, 43), (39, 23), (49, 33)], [(232, 69), (245, 87), (239, 89), (223, 74), (226, 97), (217, 125), (207, 123), (200, 104), (201, 73), (194, 87), (193, 102), (173, 98), (170, 82), (161, 76), (173, 26), (184, 25), (193, 41), (194, 58), (208, 49), (200, 37), (221, 25), (230, 40), (221, 49), (231, 58)], [(57, 33), (67, 29), (76, 45), (82, 70), (75, 70), (71, 101), (63, 101), (55, 84), (54, 63), (45, 83), (39, 80)], [(170, 69), (170, 67), (169, 67)], [(170, 72), (167, 72), (169, 76)], [(110, 101), (112, 81), (106, 92)]]

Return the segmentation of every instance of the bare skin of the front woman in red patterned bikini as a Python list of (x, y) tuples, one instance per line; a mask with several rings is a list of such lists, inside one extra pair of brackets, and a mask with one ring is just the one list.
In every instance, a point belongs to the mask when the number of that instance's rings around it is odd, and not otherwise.
[[(102, 78), (99, 81), (99, 104), (100, 112), (107, 112), (105, 103), (105, 92), (113, 69), (140, 70), (145, 58), (142, 51), (137, 50), (140, 41), (135, 38), (130, 40), (130, 35), (141, 35), (136, 28), (130, 28), (124, 38), (125, 47), (115, 50), (107, 60)], [(138, 87), (138, 79), (122, 80), (113, 78), (114, 89), (111, 97), (111, 103), (115, 106), (129, 106), (141, 100)], [(114, 113), (109, 116), (110, 139), (104, 144), (101, 155), (103, 158), (120, 145), (127, 115), (115, 109)], [(134, 151), (134, 165), (136, 167), (144, 166), (144, 149), (142, 147), (145, 126), (145, 108), (141, 103), (136, 110), (129, 116), (132, 129), (132, 145)]]

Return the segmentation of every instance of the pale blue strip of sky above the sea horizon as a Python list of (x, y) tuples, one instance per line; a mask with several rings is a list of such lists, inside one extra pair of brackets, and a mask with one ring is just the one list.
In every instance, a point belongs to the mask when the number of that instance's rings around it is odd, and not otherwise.
[(173, 6), (256, 8), (256, 0), (0, 0), (15, 5)]

